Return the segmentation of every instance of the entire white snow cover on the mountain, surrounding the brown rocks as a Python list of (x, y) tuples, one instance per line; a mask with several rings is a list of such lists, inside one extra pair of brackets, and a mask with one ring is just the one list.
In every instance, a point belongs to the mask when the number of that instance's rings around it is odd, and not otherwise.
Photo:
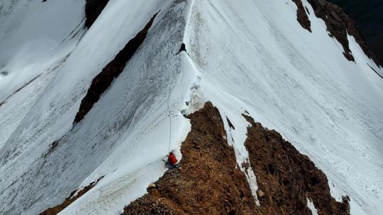
[[(38, 214), (103, 175), (60, 214), (120, 214), (165, 173), (169, 149), (181, 157), (191, 127), (182, 114), (205, 101), (220, 110), (238, 164), (249, 162), (247, 111), (309, 156), (333, 197), (348, 194), (351, 214), (382, 214), (383, 79), (367, 64), (383, 69), (353, 37), (348, 62), (306, 1), (313, 33), (287, 0), (110, 0), (89, 30), (84, 5), (0, 2), (0, 214)], [(157, 12), (73, 126), (94, 76)], [(251, 170), (247, 179), (255, 194)]]

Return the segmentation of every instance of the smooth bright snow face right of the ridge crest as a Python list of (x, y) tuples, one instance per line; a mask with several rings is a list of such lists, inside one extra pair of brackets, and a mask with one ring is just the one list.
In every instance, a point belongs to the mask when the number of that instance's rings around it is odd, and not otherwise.
[[(351, 197), (351, 214), (379, 214), (383, 79), (367, 64), (382, 69), (353, 37), (355, 63), (348, 62), (304, 5), (313, 33), (296, 21), (292, 1), (194, 1), (185, 40), (201, 73), (201, 93), (235, 129), (245, 127), (246, 110), (281, 132), (326, 173), (336, 199)], [(233, 144), (243, 139), (234, 136)]]

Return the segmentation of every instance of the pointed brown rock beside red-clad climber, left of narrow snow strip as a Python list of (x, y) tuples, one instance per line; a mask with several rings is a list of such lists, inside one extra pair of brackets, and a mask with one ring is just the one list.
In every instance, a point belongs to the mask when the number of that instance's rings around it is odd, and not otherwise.
[(224, 136), (216, 108), (189, 115), (191, 132), (182, 143), (182, 169), (168, 170), (123, 214), (253, 214), (255, 199)]

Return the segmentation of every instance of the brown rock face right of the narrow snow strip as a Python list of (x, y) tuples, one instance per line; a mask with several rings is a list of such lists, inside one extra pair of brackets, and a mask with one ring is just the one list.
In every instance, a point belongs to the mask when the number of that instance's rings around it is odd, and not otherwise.
[(311, 215), (306, 199), (312, 199), (319, 215), (348, 214), (348, 202), (336, 202), (331, 197), (326, 175), (309, 157), (299, 153), (279, 133), (243, 116), (252, 124), (245, 146), (258, 187), (265, 192), (260, 198), (261, 207), (267, 208), (269, 214)]

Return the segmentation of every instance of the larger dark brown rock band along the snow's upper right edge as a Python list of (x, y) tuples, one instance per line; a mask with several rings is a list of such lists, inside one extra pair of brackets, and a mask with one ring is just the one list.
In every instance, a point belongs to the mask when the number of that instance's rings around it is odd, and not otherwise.
[(342, 8), (336, 6), (335, 4), (329, 3), (326, 0), (308, 1), (315, 11), (315, 15), (325, 21), (327, 30), (331, 33), (331, 36), (335, 37), (343, 46), (343, 54), (349, 61), (355, 61), (355, 59), (348, 44), (347, 34), (353, 35), (357, 43), (360, 47), (362, 47), (363, 52), (365, 52), (368, 57), (372, 58), (374, 62), (380, 66), (379, 60), (374, 57), (374, 54), (367, 47), (365, 39), (359, 28), (357, 28), (357, 25), (353, 23), (353, 20), (349, 18), (345, 12), (343, 12)]

